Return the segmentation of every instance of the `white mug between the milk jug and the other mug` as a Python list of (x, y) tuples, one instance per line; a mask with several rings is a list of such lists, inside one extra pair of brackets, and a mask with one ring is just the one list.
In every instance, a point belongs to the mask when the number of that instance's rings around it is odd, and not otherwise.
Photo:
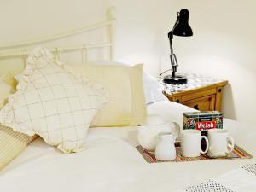
[[(201, 139), (205, 139), (207, 148), (201, 149)], [(198, 157), (206, 154), (209, 148), (209, 142), (206, 136), (201, 136), (199, 130), (183, 130), (181, 132), (181, 153), (184, 157)]]

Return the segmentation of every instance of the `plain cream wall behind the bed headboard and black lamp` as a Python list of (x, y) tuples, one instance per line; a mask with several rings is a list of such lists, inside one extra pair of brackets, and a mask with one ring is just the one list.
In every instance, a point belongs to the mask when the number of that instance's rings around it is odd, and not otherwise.
[(180, 64), (189, 71), (228, 79), (224, 90), (224, 114), (253, 125), (256, 96), (256, 25), (253, 0), (1, 0), (0, 44), (37, 38), (104, 20), (105, 9), (118, 10), (116, 60), (144, 62), (154, 75), (169, 67), (166, 34), (176, 12), (188, 8), (195, 35), (174, 37)]

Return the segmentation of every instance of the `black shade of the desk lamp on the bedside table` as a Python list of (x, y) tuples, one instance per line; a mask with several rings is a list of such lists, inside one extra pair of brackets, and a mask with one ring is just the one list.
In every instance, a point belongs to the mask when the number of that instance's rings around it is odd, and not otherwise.
[(172, 29), (172, 35), (189, 37), (193, 35), (192, 29), (189, 26), (189, 10), (181, 9), (177, 15), (177, 21)]

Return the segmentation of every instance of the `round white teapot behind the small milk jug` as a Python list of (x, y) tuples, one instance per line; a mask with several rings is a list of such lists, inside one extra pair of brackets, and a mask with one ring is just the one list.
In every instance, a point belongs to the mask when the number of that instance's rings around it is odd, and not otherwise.
[(149, 152), (154, 152), (157, 136), (160, 132), (172, 132), (175, 141), (179, 136), (180, 127), (175, 122), (166, 122), (159, 115), (148, 115), (146, 123), (138, 126), (138, 141), (140, 145)]

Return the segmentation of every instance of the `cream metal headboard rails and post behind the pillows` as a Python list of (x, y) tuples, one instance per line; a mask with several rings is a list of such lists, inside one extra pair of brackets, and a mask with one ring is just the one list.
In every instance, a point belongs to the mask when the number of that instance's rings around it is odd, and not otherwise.
[[(54, 34), (48, 37), (37, 38), (37, 39), (30, 39), (26, 41), (20, 42), (11, 42), (7, 44), (0, 44), (0, 60), (8, 60), (13, 58), (21, 58), (26, 61), (27, 55), (32, 51), (31, 49), (27, 49), (26, 47), (37, 45), (37, 44), (44, 44), (49, 42), (54, 42), (58, 39), (70, 38), (75, 35), (79, 35), (82, 33), (87, 33), (91, 31), (95, 31), (100, 28), (107, 28), (108, 29), (108, 39), (107, 43), (97, 43), (97, 44), (75, 44), (75, 45), (65, 45), (65, 46), (52, 46), (47, 47), (50, 49), (55, 55), (60, 56), (62, 52), (68, 51), (75, 51), (81, 50), (83, 55), (83, 61), (87, 58), (87, 50), (88, 49), (104, 49), (109, 48), (109, 60), (113, 61), (113, 51), (114, 51), (114, 32), (115, 32), (115, 21), (116, 21), (116, 9), (115, 7), (110, 7), (107, 9), (106, 12), (107, 20), (96, 23), (90, 26), (84, 26), (79, 29), (61, 32), (59, 34)], [(12, 51), (13, 50), (13, 51)], [(1, 53), (2, 52), (2, 53)]]

